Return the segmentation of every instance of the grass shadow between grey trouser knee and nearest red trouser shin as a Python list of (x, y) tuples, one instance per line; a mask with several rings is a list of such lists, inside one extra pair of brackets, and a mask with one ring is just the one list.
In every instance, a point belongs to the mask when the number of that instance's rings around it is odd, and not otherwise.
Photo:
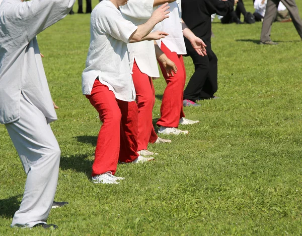
[(93, 160), (88, 159), (88, 156), (88, 154), (61, 156), (60, 167), (63, 170), (72, 169), (83, 172), (90, 179)]

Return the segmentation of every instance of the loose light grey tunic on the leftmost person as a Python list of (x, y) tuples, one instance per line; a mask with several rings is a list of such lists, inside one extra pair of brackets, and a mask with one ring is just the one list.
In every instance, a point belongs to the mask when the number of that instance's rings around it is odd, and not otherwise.
[(0, 7), (0, 123), (20, 118), (21, 93), (57, 119), (36, 35), (63, 19), (75, 0), (3, 0)]

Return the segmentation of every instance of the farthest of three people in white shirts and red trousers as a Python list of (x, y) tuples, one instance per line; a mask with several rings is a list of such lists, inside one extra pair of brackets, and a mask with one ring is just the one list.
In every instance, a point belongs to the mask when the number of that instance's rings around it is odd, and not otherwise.
[[(173, 61), (177, 67), (177, 73), (174, 76), (168, 76), (163, 63), (159, 61), (163, 76), (167, 82), (164, 91), (161, 117), (157, 122), (160, 127), (159, 134), (187, 134), (188, 131), (176, 129), (179, 124), (191, 125), (199, 121), (185, 119), (183, 111), (183, 91), (186, 82), (186, 69), (183, 61), (183, 54), (186, 54), (186, 46), (183, 36), (190, 38), (192, 46), (200, 54), (205, 52), (205, 44), (196, 37), (185, 25), (181, 19), (181, 0), (169, 4), (169, 18), (157, 24), (156, 30), (163, 30), (169, 36), (157, 40), (161, 50)], [(196, 104), (198, 105), (198, 104)]]

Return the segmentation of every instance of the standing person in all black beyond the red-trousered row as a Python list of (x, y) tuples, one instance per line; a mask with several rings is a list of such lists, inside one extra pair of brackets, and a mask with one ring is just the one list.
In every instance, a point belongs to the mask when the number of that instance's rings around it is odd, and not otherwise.
[(184, 100), (195, 102), (199, 99), (214, 98), (217, 91), (217, 57), (211, 49), (211, 15), (220, 16), (234, 10), (238, 0), (183, 0), (182, 19), (188, 28), (207, 45), (207, 55), (201, 56), (185, 38), (187, 55), (191, 56), (195, 72), (185, 91)]

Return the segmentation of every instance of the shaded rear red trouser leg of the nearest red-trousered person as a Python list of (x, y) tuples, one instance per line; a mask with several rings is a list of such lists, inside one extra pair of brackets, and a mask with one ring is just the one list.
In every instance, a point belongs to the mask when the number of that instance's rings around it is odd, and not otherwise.
[(138, 157), (137, 132), (138, 132), (138, 108), (135, 101), (126, 102), (116, 99), (122, 118), (120, 124), (120, 152), (121, 162), (132, 162)]

